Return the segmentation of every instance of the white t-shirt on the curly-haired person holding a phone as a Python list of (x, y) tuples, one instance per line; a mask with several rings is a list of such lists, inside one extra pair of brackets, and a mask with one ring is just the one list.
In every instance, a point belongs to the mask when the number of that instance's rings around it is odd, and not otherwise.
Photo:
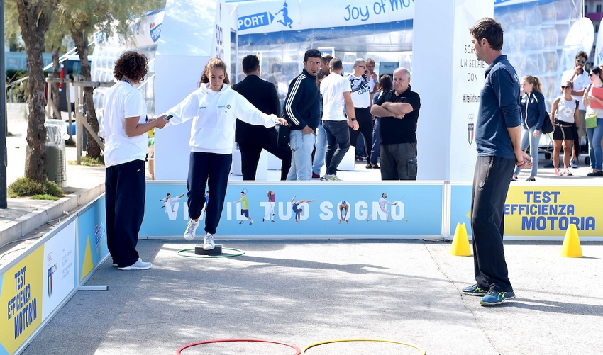
[(147, 134), (126, 135), (126, 117), (140, 116), (138, 123), (145, 123), (147, 106), (143, 94), (130, 84), (119, 81), (106, 91), (103, 107), (105, 166), (144, 160), (149, 145)]

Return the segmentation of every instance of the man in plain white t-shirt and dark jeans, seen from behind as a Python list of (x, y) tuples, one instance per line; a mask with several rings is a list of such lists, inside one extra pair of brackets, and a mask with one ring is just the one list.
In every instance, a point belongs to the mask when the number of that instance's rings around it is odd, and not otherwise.
[[(326, 133), (326, 174), (324, 180), (339, 180), (337, 167), (350, 149), (350, 131), (358, 130), (350, 81), (341, 76), (343, 64), (339, 58), (329, 62), (331, 74), (321, 82), (323, 97), (323, 127)], [(345, 118), (345, 113), (348, 117)]]

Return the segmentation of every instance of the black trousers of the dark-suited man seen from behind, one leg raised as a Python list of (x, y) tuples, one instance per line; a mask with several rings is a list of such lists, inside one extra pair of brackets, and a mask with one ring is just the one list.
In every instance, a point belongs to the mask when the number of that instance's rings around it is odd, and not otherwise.
[(262, 149), (281, 159), (280, 179), (287, 180), (289, 168), (291, 168), (291, 150), (289, 147), (279, 147), (277, 145), (277, 131), (270, 132), (270, 140), (262, 145), (252, 145), (248, 143), (239, 143), (240, 167), (243, 172), (243, 180), (255, 180), (255, 171), (258, 169), (260, 154)]

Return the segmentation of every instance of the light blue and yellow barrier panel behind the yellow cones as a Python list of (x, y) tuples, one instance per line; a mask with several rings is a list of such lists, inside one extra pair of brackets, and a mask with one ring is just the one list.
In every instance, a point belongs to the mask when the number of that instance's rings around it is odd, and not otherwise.
[[(457, 223), (465, 223), (472, 235), (470, 209), (472, 186), (450, 186), (450, 235)], [(601, 240), (603, 186), (511, 185), (504, 205), (504, 235), (563, 238), (570, 224), (581, 240)]]

